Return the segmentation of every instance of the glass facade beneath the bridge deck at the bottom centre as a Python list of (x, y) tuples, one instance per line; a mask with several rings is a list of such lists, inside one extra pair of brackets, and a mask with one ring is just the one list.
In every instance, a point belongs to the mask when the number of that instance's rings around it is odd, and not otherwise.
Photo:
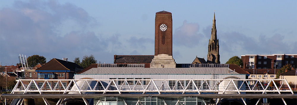
[(200, 97), (181, 97), (181, 98), (163, 98), (163, 97), (102, 97), (94, 98), (94, 105), (207, 105), (210, 98)]

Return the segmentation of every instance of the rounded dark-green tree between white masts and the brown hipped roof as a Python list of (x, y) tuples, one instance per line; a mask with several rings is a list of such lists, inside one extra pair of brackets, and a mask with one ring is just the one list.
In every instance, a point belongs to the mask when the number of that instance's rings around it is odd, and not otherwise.
[(29, 67), (34, 67), (37, 64), (41, 64), (41, 65), (45, 64), (46, 58), (43, 56), (39, 56), (39, 55), (32, 55), (27, 58), (27, 62), (28, 62)]

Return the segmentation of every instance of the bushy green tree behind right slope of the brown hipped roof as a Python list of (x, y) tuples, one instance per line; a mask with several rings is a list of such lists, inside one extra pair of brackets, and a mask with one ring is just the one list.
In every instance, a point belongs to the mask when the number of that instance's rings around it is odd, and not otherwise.
[[(97, 63), (97, 60), (95, 59), (94, 55), (91, 54), (90, 56), (87, 56), (87, 55), (83, 56), (83, 59), (81, 62), (79, 60), (79, 57), (76, 57), (73, 62), (78, 64), (80, 67), (86, 68), (90, 64)], [(101, 62), (99, 61), (99, 63)]]

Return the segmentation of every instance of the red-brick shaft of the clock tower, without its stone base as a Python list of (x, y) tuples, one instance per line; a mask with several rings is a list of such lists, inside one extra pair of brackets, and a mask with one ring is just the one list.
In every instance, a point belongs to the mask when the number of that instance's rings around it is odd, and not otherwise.
[(156, 13), (155, 17), (155, 56), (172, 56), (172, 15), (167, 11)]

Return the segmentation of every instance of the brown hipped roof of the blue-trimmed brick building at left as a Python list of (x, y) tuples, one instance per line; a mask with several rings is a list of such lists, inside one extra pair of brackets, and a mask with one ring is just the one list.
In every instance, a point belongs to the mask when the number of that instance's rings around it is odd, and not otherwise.
[(71, 71), (75, 71), (75, 69), (82, 70), (83, 68), (80, 67), (76, 63), (54, 58), (36, 70), (71, 70)]

